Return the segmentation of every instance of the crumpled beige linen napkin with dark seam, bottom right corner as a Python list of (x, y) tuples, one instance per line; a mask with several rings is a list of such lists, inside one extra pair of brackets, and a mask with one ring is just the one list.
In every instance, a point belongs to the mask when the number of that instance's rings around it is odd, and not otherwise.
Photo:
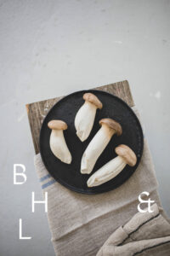
[(153, 212), (136, 213), (127, 224), (119, 227), (97, 256), (170, 255), (170, 224), (156, 204), (151, 210)]

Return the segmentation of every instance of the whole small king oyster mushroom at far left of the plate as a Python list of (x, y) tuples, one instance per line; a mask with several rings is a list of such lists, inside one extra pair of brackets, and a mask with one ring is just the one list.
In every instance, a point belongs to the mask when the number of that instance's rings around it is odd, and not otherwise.
[(48, 127), (52, 130), (49, 145), (53, 154), (65, 164), (71, 164), (71, 153), (65, 143), (63, 131), (67, 129), (67, 124), (61, 120), (51, 120)]

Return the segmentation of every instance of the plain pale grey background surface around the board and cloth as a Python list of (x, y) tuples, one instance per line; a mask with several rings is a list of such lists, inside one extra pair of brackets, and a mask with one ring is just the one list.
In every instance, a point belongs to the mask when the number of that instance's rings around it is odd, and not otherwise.
[[(127, 79), (170, 215), (170, 1), (0, 0), (0, 254), (54, 255), (25, 104)], [(13, 165), (27, 182), (13, 184)], [(19, 241), (19, 218), (31, 241)]]

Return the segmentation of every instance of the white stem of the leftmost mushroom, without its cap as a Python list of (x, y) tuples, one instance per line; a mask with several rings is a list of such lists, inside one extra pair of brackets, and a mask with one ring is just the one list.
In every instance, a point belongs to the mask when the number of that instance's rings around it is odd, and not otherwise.
[(53, 154), (65, 164), (71, 163), (71, 153), (65, 143), (63, 130), (52, 130), (50, 135), (50, 148)]

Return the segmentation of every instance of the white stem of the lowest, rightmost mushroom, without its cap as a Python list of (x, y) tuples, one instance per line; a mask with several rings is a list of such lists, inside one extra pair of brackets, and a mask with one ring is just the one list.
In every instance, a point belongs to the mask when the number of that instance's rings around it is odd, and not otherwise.
[(106, 163), (105, 166), (102, 166), (97, 172), (94, 172), (94, 174), (88, 178), (88, 187), (95, 187), (102, 183), (106, 183), (122, 172), (126, 165), (127, 163), (121, 156), (116, 156), (116, 158)]

